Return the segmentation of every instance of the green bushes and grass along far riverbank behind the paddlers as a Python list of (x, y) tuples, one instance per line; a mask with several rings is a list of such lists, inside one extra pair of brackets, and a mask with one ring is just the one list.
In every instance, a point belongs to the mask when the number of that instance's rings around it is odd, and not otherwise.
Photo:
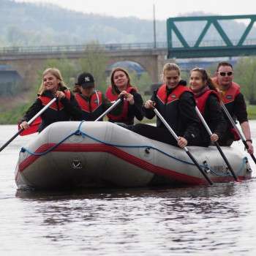
[[(88, 46), (88, 48), (87, 48)], [(98, 42), (91, 42), (90, 47), (87, 45), (87, 50), (81, 56), (81, 59), (70, 61), (68, 59), (48, 59), (42, 64), (42, 69), (37, 70), (37, 75), (30, 83), (24, 81), (19, 86), (14, 87), (12, 91), (4, 91), (11, 86), (1, 84), (0, 86), (0, 124), (18, 124), (18, 121), (23, 117), (23, 114), (30, 107), (32, 102), (37, 97), (37, 90), (42, 83), (42, 72), (48, 67), (56, 67), (61, 71), (67, 87), (72, 91), (77, 75), (80, 72), (89, 71), (94, 74), (96, 79), (97, 89), (105, 92), (110, 84), (110, 67), (108, 66), (108, 56), (105, 50)], [(143, 100), (150, 98), (151, 95), (144, 95), (148, 90), (151, 91), (152, 80), (148, 72), (142, 72), (140, 75), (132, 69), (126, 67), (129, 72), (129, 77), (133, 86), (138, 88)], [(107, 70), (107, 72), (106, 72)], [(208, 67), (208, 73), (213, 75), (216, 70), (216, 65)], [(256, 56), (242, 57), (238, 59), (235, 67), (235, 81), (242, 85), (241, 92), (246, 99), (247, 111), (249, 119), (256, 119), (256, 94), (255, 94), (255, 80), (256, 80)], [(181, 78), (189, 80), (189, 72), (182, 72)], [(33, 84), (34, 86), (29, 86)], [(150, 93), (151, 94), (151, 93)], [(145, 122), (151, 122), (145, 119)]]

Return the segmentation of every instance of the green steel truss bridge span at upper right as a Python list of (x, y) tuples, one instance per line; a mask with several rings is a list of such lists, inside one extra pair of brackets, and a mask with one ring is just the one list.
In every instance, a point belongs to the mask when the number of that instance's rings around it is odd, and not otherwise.
[[(232, 34), (236, 34), (236, 39), (230, 38), (227, 33), (230, 29), (228, 22), (235, 20), (238, 22), (248, 21), (245, 25), (246, 29), (240, 36), (232, 31)], [(252, 33), (255, 20), (256, 15), (169, 18), (167, 19), (167, 56), (168, 58), (188, 59), (256, 55), (256, 39), (248, 38)], [(200, 33), (197, 34), (195, 41), (188, 42), (182, 29), (186, 27), (188, 31), (189, 28), (189, 34), (195, 37), (198, 24), (201, 27)], [(197, 29), (195, 29), (196, 27)], [(206, 36), (211, 39), (206, 39)]]

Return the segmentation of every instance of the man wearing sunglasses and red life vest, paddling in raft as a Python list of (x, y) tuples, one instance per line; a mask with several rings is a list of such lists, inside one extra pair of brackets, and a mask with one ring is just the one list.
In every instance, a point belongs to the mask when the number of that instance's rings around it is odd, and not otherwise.
[[(244, 137), (246, 138), (246, 143), (249, 146), (249, 154), (253, 154), (252, 137), (247, 118), (246, 103), (243, 94), (241, 94), (240, 86), (233, 82), (232, 65), (229, 62), (220, 62), (214, 80), (217, 83), (219, 91), (222, 93), (222, 102), (224, 102), (230, 116), (232, 116), (234, 120), (237, 119), (241, 125)], [(240, 139), (236, 133), (236, 129), (230, 124), (230, 121), (227, 121), (227, 123), (229, 124), (229, 128), (222, 140), (219, 140), (219, 145), (221, 146), (230, 146), (234, 140)]]

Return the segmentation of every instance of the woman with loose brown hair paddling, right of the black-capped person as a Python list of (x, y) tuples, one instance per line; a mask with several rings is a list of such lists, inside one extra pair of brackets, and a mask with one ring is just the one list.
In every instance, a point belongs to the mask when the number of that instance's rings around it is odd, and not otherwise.
[(131, 85), (128, 72), (120, 67), (113, 69), (110, 80), (111, 86), (106, 91), (106, 97), (110, 102), (120, 97), (124, 97), (124, 101), (108, 114), (109, 121), (125, 124), (125, 127), (134, 124), (135, 117), (141, 121), (143, 99), (138, 89)]

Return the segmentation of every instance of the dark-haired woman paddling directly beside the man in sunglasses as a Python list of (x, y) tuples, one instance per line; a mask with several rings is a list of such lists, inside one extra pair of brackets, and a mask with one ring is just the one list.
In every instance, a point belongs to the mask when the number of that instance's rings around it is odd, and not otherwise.
[(210, 138), (206, 128), (201, 124), (200, 146), (209, 146), (211, 142), (222, 138), (227, 129), (227, 122), (225, 121), (222, 108), (219, 104), (219, 93), (206, 72), (206, 69), (199, 67), (191, 70), (189, 86), (194, 93), (197, 108), (200, 110), (206, 124), (208, 124), (208, 127), (213, 133)]

